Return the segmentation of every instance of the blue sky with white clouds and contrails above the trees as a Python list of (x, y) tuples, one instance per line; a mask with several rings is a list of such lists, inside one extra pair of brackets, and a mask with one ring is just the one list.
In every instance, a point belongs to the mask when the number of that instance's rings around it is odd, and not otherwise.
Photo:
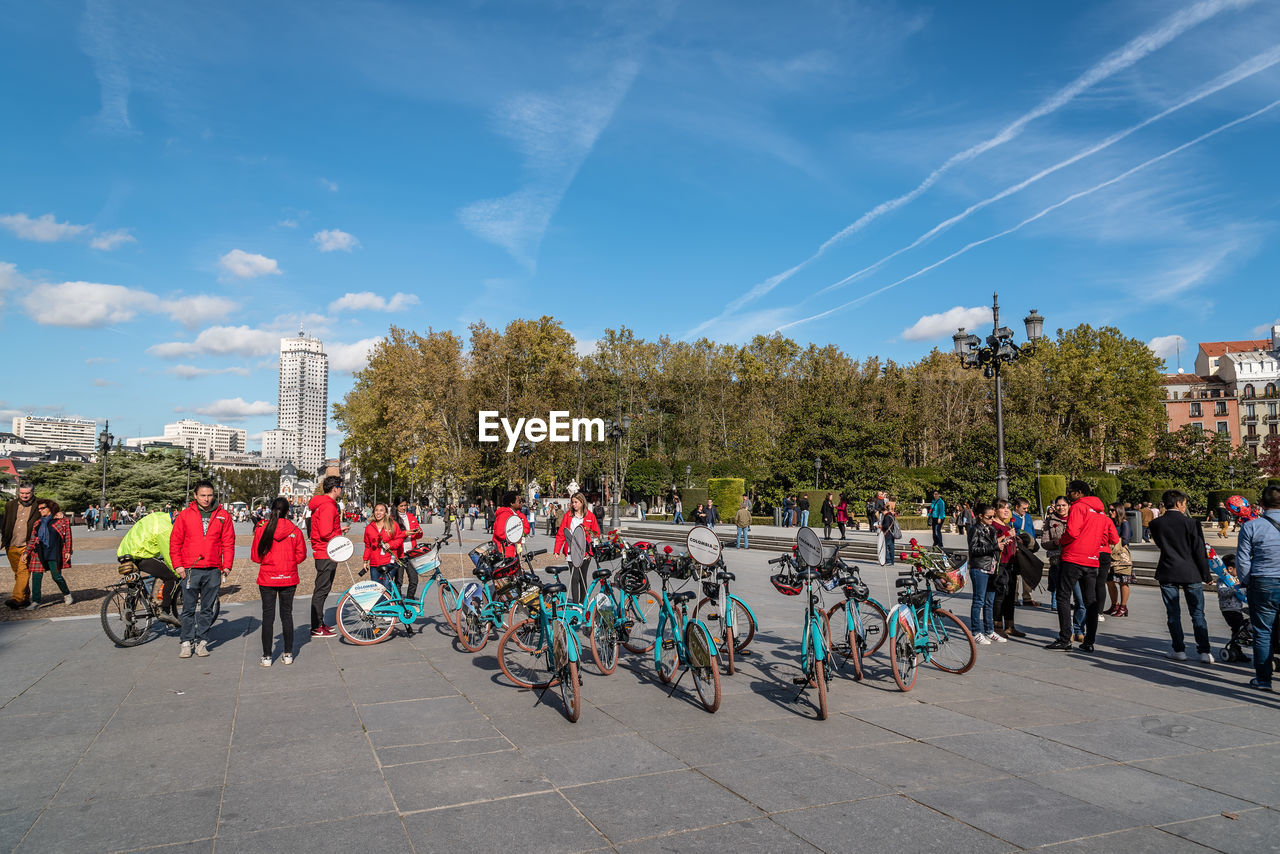
[(337, 401), (392, 323), (914, 360), (998, 289), (1190, 367), (1280, 315), (1268, 0), (0, 12), (6, 417), (257, 434), (300, 324)]

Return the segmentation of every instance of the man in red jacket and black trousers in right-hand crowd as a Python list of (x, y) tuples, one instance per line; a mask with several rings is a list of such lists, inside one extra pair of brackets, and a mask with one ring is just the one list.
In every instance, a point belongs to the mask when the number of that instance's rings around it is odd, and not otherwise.
[(1073, 480), (1066, 488), (1071, 508), (1066, 513), (1066, 531), (1062, 544), (1062, 568), (1057, 579), (1057, 640), (1046, 649), (1071, 648), (1071, 594), (1080, 583), (1084, 598), (1084, 643), (1082, 653), (1093, 652), (1093, 639), (1098, 632), (1098, 611), (1107, 595), (1107, 577), (1098, 571), (1098, 553), (1120, 542), (1116, 526), (1083, 480)]

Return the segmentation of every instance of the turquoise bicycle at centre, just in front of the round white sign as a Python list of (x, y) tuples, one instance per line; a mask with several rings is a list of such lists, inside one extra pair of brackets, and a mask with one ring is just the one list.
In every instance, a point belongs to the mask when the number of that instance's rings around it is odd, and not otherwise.
[(701, 620), (689, 616), (689, 600), (698, 595), (696, 590), (671, 593), (672, 575), (691, 577), (692, 567), (689, 556), (667, 557), (657, 563), (658, 577), (662, 579), (662, 607), (658, 611), (658, 632), (653, 647), (653, 666), (658, 679), (671, 685), (676, 691), (684, 670), (694, 680), (698, 700), (708, 712), (716, 712), (721, 703), (719, 653), (710, 630)]

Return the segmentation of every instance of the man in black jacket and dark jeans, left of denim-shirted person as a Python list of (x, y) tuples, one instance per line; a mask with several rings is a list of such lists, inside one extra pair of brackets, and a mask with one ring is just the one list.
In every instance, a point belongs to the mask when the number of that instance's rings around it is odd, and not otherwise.
[(1165, 512), (1151, 520), (1151, 535), (1160, 548), (1156, 581), (1169, 613), (1169, 638), (1174, 650), (1169, 658), (1187, 661), (1183, 640), (1183, 613), (1179, 597), (1187, 599), (1196, 634), (1196, 652), (1201, 662), (1213, 663), (1208, 647), (1208, 624), (1204, 621), (1204, 584), (1210, 581), (1208, 554), (1204, 551), (1204, 531), (1199, 522), (1187, 515), (1187, 493), (1170, 489), (1161, 495)]

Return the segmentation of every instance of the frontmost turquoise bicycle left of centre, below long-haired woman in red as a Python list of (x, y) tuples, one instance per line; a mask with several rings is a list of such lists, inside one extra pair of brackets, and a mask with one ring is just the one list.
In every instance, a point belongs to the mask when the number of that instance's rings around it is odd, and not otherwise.
[(498, 665), (517, 688), (545, 693), (559, 688), (564, 716), (577, 721), (582, 714), (582, 682), (579, 671), (577, 632), (570, 625), (567, 588), (559, 574), (567, 566), (544, 571), (556, 580), (539, 584), (527, 574), (530, 593), (521, 598), (531, 616), (512, 622), (498, 640)]

